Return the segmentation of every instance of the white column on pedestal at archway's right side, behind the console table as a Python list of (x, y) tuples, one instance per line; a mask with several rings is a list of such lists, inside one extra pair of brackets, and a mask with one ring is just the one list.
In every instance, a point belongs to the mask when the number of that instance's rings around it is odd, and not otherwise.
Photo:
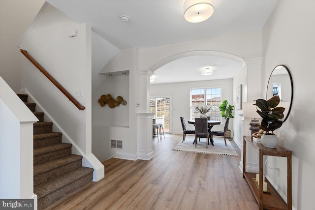
[[(265, 96), (261, 96), (261, 63), (262, 58), (253, 58), (246, 59), (242, 62), (242, 66), (247, 68), (247, 78), (245, 85), (244, 93), (247, 95), (247, 101), (245, 102), (253, 102), (258, 98), (265, 98)], [(258, 79), (256, 79), (258, 78)], [(242, 118), (242, 132), (245, 136), (250, 136), (251, 132), (249, 130), (249, 121), (252, 120), (250, 118)], [(243, 138), (242, 135), (242, 138)], [(241, 161), (240, 161), (240, 169), (243, 170), (243, 139), (242, 139), (242, 152), (241, 152)], [(246, 144), (246, 171), (251, 173), (259, 172), (259, 152), (254, 149), (250, 144)]]

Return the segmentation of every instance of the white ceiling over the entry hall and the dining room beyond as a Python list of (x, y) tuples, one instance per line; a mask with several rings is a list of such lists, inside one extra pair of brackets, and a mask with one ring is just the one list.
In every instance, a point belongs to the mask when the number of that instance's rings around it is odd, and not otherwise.
[[(201, 23), (189, 23), (184, 19), (185, 0), (47, 1), (79, 23), (90, 24), (95, 33), (119, 49), (147, 48), (262, 29), (278, 3), (278, 0), (215, 0), (213, 16)], [(122, 15), (129, 21), (122, 22)], [(215, 66), (214, 75), (201, 77), (201, 68), (210, 65)], [(155, 83), (233, 78), (233, 70), (238, 66), (235, 61), (219, 57), (188, 57), (156, 70)]]

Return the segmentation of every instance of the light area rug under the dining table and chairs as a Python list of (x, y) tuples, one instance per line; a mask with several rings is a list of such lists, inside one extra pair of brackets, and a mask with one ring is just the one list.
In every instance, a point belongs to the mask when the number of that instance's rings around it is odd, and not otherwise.
[(220, 154), (220, 155), (228, 155), (228, 156), (237, 156), (237, 152), (234, 150), (230, 141), (226, 139), (226, 146), (223, 138), (213, 138), (214, 145), (208, 145), (208, 149), (206, 148), (206, 139), (202, 138), (201, 141), (197, 144), (197, 148), (192, 144), (194, 137), (186, 136), (184, 142), (182, 140), (173, 148), (173, 150), (177, 151), (188, 151), (188, 152), (197, 152), (197, 153), (206, 153), (206, 154)]

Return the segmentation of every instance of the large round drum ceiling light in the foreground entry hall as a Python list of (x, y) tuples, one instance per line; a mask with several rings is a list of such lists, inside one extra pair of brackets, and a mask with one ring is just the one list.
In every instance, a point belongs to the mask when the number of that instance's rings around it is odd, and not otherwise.
[(190, 23), (205, 21), (213, 12), (213, 0), (186, 0), (184, 3), (184, 18)]

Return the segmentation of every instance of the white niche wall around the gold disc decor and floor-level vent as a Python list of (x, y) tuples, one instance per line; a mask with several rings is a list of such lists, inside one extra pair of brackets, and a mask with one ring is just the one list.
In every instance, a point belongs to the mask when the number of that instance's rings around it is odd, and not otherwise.
[[(93, 153), (100, 161), (111, 157), (137, 159), (136, 85), (137, 50), (121, 50), (110, 60), (100, 73), (129, 71), (128, 76), (106, 78), (93, 92)], [(100, 107), (97, 100), (102, 94), (119, 95), (127, 101), (113, 109)], [(122, 140), (123, 150), (110, 149), (111, 140)]]

